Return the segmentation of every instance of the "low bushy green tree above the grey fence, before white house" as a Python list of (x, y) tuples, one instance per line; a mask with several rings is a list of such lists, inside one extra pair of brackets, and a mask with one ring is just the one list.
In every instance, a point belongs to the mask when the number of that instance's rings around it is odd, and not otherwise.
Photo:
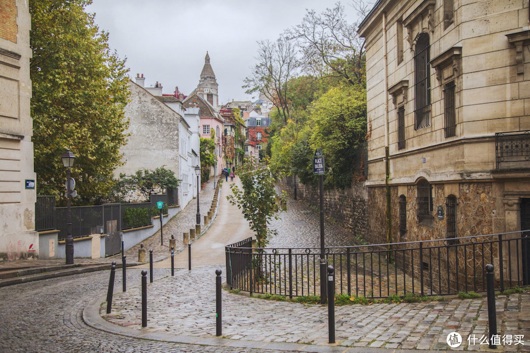
[(140, 191), (148, 202), (157, 188), (160, 188), (163, 194), (167, 189), (179, 187), (180, 179), (175, 177), (173, 170), (164, 167), (155, 170), (139, 169), (133, 175), (120, 174), (120, 179), (126, 189)]

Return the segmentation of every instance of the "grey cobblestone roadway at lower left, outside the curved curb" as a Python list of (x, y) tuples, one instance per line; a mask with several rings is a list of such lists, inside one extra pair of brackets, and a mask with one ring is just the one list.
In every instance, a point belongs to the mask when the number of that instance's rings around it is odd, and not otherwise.
[[(165, 272), (155, 270), (155, 278)], [(262, 352), (142, 340), (91, 328), (83, 322), (83, 308), (106, 293), (108, 278), (108, 271), (99, 271), (0, 288), (0, 352)], [(120, 278), (116, 276), (115, 292), (121, 291)], [(128, 270), (130, 285), (139, 278), (139, 270)], [(135, 291), (128, 288), (126, 293)]]

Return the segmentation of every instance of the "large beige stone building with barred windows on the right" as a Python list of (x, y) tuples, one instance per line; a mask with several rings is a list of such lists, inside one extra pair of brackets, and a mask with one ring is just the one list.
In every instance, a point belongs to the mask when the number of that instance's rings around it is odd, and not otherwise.
[(370, 240), (530, 229), (529, 24), (501, 0), (379, 0), (360, 24)]

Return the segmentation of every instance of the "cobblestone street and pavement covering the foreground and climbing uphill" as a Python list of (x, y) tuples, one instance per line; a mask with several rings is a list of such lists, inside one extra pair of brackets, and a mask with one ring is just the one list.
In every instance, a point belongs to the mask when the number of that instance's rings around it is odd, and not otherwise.
[[(227, 186), (224, 183), (219, 204), (227, 203)], [(201, 194), (201, 213), (203, 208), (204, 212), (208, 210), (213, 198), (210, 183), (203, 193), (208, 194), (209, 190), (209, 200)], [(174, 233), (181, 240), (177, 234), (195, 223), (195, 213), (196, 207), (190, 203), (164, 227), (164, 234)], [(288, 211), (279, 216), (273, 222), (278, 235), (269, 246), (319, 245), (318, 213), (305, 203), (289, 200)], [(204, 240), (218, 233), (216, 222), (226, 224), (225, 221), (220, 212), (210, 231), (202, 236)], [(326, 222), (326, 246), (352, 242), (355, 239), (347, 232)], [(147, 249), (155, 248), (157, 259), (169, 255), (168, 249), (160, 246), (160, 233), (144, 244)], [(177, 241), (177, 248), (182, 247), (182, 242)], [(134, 259), (137, 247), (126, 255)], [(175, 276), (171, 276), (169, 268), (155, 268), (154, 282), (147, 285), (147, 328), (141, 327), (140, 268), (127, 269), (127, 292), (121, 292), (121, 271), (117, 271), (111, 314), (106, 314), (106, 306), (101, 305), (109, 271), (0, 288), (0, 320), (4, 323), (0, 351), (439, 352), (449, 350), (446, 339), (453, 331), (463, 338), (463, 344), (455, 350), (488, 350), (480, 342), (469, 345), (466, 341), (470, 335), (480, 339), (487, 334), (485, 297), (337, 306), (337, 344), (329, 345), (327, 306), (263, 300), (223, 291), (223, 338), (215, 338), (215, 270), (223, 270), (224, 282), (224, 256), (202, 259), (202, 263), (208, 265), (193, 267), (191, 271), (177, 269)], [(499, 295), (496, 305), (499, 334), (524, 335), (525, 339), (525, 345), (503, 345), (496, 351), (530, 351), (530, 294)]]

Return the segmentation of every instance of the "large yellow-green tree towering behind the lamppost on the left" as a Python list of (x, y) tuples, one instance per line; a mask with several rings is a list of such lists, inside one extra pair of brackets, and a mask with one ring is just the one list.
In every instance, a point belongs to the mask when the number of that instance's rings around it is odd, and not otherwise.
[(30, 0), (33, 57), (34, 169), (39, 195), (60, 195), (65, 170), (60, 155), (76, 155), (72, 177), (77, 203), (98, 202), (112, 186), (126, 143), (128, 101), (125, 60), (108, 46), (84, 7), (90, 0)]

